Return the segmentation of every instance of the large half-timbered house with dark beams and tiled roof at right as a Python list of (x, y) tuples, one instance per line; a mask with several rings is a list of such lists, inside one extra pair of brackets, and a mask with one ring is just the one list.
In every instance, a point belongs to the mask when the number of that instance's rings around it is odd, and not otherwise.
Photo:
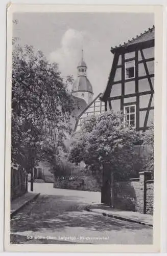
[(123, 111), (125, 125), (138, 131), (154, 120), (154, 29), (111, 48), (113, 63), (101, 97), (106, 111)]

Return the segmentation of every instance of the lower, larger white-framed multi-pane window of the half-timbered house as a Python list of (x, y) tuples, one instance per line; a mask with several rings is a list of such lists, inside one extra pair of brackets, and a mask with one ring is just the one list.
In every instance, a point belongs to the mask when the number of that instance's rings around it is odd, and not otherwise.
[(136, 127), (136, 105), (124, 106), (124, 126)]

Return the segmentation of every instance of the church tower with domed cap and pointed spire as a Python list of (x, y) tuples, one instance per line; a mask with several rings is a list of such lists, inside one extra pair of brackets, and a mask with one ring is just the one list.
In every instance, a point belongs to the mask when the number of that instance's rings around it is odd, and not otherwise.
[(83, 60), (83, 50), (82, 50), (82, 58), (77, 67), (78, 77), (73, 84), (72, 94), (78, 98), (84, 99), (87, 105), (93, 99), (93, 90), (89, 79), (86, 76), (87, 66), (85, 61)]

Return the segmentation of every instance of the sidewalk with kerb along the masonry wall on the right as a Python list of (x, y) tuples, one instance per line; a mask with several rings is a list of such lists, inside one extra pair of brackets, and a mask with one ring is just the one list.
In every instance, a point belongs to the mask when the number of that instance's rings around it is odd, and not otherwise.
[(87, 211), (96, 212), (97, 214), (115, 218), (119, 220), (135, 222), (143, 225), (148, 225), (153, 227), (153, 216), (148, 214), (140, 214), (134, 211), (124, 211), (112, 209), (110, 206), (105, 204), (89, 205), (86, 207)]

